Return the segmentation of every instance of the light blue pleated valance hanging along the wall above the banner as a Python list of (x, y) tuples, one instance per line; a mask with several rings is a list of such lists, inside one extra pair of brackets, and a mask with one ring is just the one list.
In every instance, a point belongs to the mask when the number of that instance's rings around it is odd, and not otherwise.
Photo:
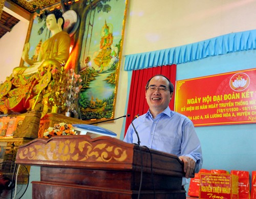
[(125, 56), (124, 70), (196, 61), (209, 56), (256, 49), (256, 30), (230, 33), (188, 45)]

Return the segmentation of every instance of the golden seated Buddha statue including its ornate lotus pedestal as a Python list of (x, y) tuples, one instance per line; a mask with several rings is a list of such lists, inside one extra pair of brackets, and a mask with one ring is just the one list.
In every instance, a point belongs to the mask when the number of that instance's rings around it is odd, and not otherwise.
[(12, 90), (1, 97), (0, 112), (27, 112), (33, 108), (31, 103), (36, 103), (37, 95), (49, 93), (47, 86), (53, 79), (53, 71), (56, 74), (62, 63), (67, 62), (69, 58), (71, 39), (67, 32), (62, 31), (63, 25), (64, 18), (60, 10), (48, 13), (46, 26), (52, 36), (41, 45), (38, 43), (37, 48), (40, 46), (40, 50), (36, 60), (35, 57), (29, 58), (30, 44), (25, 44), (22, 58), (30, 66), (24, 65), (13, 69), (12, 79), (9, 80), (13, 85)]

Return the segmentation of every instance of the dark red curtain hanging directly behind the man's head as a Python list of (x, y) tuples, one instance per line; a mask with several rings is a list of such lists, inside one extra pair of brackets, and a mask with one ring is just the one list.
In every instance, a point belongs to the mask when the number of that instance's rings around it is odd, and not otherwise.
[[(158, 74), (164, 75), (167, 78), (169, 78), (169, 80), (175, 86), (176, 64), (133, 71), (131, 86), (130, 86), (129, 102), (128, 102), (128, 107), (126, 112), (127, 114), (130, 114), (131, 117), (126, 118), (125, 134), (126, 134), (127, 128), (131, 124), (131, 121), (134, 119), (134, 117), (137, 114), (143, 115), (144, 113), (147, 112), (148, 105), (145, 99), (146, 82), (152, 76), (158, 75)], [(173, 96), (172, 101), (170, 101), (170, 104), (169, 104), (169, 107), (172, 110), (174, 109), (174, 99), (175, 99), (175, 96)]]

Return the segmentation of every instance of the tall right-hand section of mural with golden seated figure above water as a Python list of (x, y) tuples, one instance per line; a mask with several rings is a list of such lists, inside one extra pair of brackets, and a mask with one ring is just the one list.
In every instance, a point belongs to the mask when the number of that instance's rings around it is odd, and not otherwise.
[(114, 117), (126, 4), (113, 0), (98, 5), (87, 13), (79, 56), (83, 120)]

